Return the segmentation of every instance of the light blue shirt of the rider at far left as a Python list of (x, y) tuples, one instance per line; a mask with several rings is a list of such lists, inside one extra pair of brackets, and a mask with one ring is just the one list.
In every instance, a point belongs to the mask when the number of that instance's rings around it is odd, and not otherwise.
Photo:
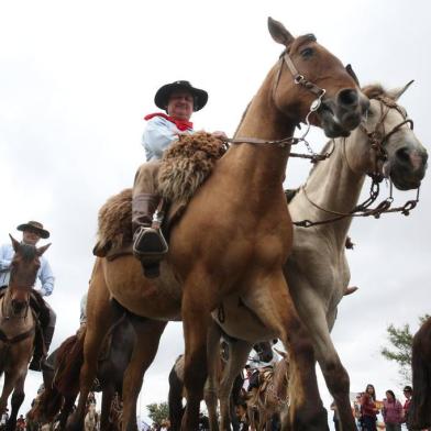
[[(10, 279), (10, 266), (15, 251), (12, 244), (3, 244), (0, 246), (0, 286), (8, 286)], [(41, 267), (37, 270), (37, 277), (41, 281), (40, 292), (42, 296), (49, 296), (54, 289), (54, 274), (51, 269), (48, 261), (40, 257)]]

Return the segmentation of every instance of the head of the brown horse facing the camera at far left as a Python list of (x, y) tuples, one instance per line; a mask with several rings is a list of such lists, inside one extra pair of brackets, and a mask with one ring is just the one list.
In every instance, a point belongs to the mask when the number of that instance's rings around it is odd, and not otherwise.
[(9, 236), (15, 252), (11, 263), (9, 291), (12, 310), (18, 314), (29, 306), (30, 292), (41, 266), (40, 257), (51, 244), (37, 248), (34, 245), (18, 242), (12, 235)]

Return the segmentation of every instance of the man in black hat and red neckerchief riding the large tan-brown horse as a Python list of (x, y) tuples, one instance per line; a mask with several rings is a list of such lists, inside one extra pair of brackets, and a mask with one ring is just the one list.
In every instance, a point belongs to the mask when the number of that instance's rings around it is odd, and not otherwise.
[[(142, 136), (142, 145), (148, 163), (143, 164), (136, 173), (132, 223), (133, 253), (143, 264), (145, 274), (151, 277), (157, 277), (158, 263), (168, 248), (159, 230), (163, 203), (156, 183), (158, 161), (179, 135), (194, 133), (191, 114), (201, 110), (207, 101), (207, 91), (192, 87), (189, 81), (178, 80), (161, 87), (154, 97), (155, 104), (167, 114), (157, 112), (145, 117), (147, 125)], [(223, 132), (213, 132), (212, 135), (225, 136)]]

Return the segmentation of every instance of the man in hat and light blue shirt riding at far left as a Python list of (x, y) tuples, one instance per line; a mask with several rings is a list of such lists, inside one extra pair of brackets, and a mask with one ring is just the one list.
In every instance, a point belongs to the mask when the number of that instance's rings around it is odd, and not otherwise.
[[(43, 228), (43, 224), (37, 221), (29, 221), (20, 224), (16, 230), (22, 231), (22, 243), (36, 245), (41, 239), (48, 239), (49, 232)], [(14, 255), (14, 250), (11, 243), (0, 246), (0, 289), (8, 287), (10, 278), (10, 266)], [(45, 358), (53, 340), (56, 313), (49, 305), (42, 298), (49, 296), (54, 289), (54, 275), (51, 269), (48, 261), (41, 256), (41, 267), (37, 272), (37, 278), (41, 281), (41, 287), (34, 290), (40, 295), (32, 296), (31, 306), (38, 314), (38, 320), (42, 329), (43, 340), (37, 340), (33, 353), (33, 360), (29, 368), (40, 372), (43, 366), (46, 366)], [(44, 344), (44, 346), (43, 346)]]

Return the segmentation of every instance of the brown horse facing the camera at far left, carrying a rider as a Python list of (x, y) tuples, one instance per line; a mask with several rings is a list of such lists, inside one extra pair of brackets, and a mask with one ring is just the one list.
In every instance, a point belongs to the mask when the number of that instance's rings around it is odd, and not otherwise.
[(0, 375), (4, 373), (0, 413), (5, 410), (8, 398), (13, 390), (8, 431), (15, 429), (34, 347), (36, 318), (30, 308), (30, 295), (41, 266), (40, 257), (51, 245), (36, 248), (10, 237), (15, 254), (11, 263), (9, 286), (0, 299)]

